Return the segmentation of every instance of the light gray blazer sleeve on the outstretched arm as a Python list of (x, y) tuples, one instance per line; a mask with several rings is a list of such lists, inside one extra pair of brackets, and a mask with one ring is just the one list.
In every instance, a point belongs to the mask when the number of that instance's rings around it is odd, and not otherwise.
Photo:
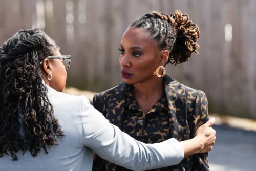
[(184, 158), (183, 146), (174, 138), (145, 144), (109, 123), (84, 96), (81, 108), (84, 145), (102, 159), (131, 170), (151, 170), (176, 165)]

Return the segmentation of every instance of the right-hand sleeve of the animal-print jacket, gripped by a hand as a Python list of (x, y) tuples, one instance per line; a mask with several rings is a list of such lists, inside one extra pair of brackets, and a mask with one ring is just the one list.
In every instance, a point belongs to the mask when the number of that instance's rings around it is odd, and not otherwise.
[[(207, 96), (203, 91), (199, 91), (195, 99), (195, 107), (190, 117), (190, 134), (195, 137), (199, 126), (209, 120)], [(208, 171), (208, 153), (193, 155), (193, 169), (197, 171)]]

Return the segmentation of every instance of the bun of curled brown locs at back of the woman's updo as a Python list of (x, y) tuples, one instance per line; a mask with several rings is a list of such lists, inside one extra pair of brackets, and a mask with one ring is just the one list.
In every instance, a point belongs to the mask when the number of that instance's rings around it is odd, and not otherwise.
[(176, 40), (173, 44), (172, 51), (169, 55), (170, 63), (182, 63), (190, 59), (191, 54), (198, 53), (199, 48), (197, 41), (200, 37), (200, 31), (196, 24), (189, 20), (187, 14), (182, 14), (180, 11), (175, 11), (175, 14), (170, 14), (175, 21), (175, 29), (177, 32)]

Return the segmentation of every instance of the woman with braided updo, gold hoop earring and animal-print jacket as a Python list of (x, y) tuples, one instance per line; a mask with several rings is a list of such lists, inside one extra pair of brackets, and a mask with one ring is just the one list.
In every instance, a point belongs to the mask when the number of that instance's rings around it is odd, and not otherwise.
[[(184, 86), (166, 75), (168, 63), (188, 61), (198, 53), (199, 28), (176, 11), (143, 15), (124, 32), (119, 63), (124, 82), (98, 93), (93, 105), (123, 132), (144, 143), (196, 136), (208, 121), (203, 91)], [(208, 170), (207, 152), (184, 158), (179, 164), (156, 170)], [(94, 170), (126, 170), (97, 157)]]

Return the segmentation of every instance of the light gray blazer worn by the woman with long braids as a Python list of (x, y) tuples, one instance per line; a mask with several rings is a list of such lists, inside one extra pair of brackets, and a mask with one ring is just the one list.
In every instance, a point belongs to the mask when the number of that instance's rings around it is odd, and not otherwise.
[(66, 137), (58, 146), (42, 149), (32, 157), (17, 153), (0, 158), (0, 170), (92, 170), (93, 151), (101, 158), (132, 170), (150, 170), (178, 164), (184, 157), (182, 145), (174, 138), (156, 144), (144, 144), (109, 123), (84, 96), (72, 96), (48, 88), (54, 116)]

